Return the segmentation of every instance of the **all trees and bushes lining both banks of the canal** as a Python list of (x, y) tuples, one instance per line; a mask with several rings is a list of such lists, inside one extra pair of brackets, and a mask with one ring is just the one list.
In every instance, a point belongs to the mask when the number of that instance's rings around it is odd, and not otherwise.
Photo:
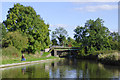
[[(40, 51), (50, 45), (79, 47), (78, 57), (96, 56), (102, 61), (109, 57), (112, 57), (110, 60), (119, 58), (116, 55), (120, 50), (119, 33), (110, 32), (100, 18), (87, 20), (84, 26), (77, 26), (74, 29), (74, 39), (69, 37), (67, 30), (58, 27), (52, 31), (50, 41), (49, 24), (32, 7), (17, 3), (9, 9), (7, 19), (0, 24), (0, 29), (0, 47), (5, 63), (9, 63), (7, 60), (12, 58), (20, 62), (21, 53), (25, 53), (28, 61), (44, 58), (47, 53), (41, 57)], [(36, 55), (38, 56), (34, 57)]]

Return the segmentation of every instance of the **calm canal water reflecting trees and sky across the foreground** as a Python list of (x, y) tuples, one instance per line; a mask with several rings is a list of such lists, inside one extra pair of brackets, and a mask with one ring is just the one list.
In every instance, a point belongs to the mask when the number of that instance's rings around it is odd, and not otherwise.
[(112, 78), (120, 79), (120, 67), (92, 60), (61, 59), (1, 68), (2, 78)]

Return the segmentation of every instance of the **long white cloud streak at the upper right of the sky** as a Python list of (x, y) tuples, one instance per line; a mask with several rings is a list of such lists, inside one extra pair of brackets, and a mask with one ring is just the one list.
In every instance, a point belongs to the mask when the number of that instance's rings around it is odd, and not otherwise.
[(117, 5), (97, 5), (97, 6), (86, 6), (86, 7), (75, 8), (75, 10), (95, 12), (99, 10), (113, 10), (117, 8), (118, 8)]

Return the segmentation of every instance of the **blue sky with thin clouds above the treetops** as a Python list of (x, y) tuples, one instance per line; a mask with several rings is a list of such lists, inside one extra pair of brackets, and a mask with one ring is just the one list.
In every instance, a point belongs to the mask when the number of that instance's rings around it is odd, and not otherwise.
[[(7, 11), (17, 2), (2, 2), (2, 21), (6, 20)], [(118, 31), (118, 3), (117, 2), (19, 2), (24, 6), (32, 6), (50, 30), (61, 26), (73, 38), (74, 29), (84, 26), (89, 19), (104, 20), (104, 26), (110, 31)], [(2, 22), (0, 21), (0, 22)]]

